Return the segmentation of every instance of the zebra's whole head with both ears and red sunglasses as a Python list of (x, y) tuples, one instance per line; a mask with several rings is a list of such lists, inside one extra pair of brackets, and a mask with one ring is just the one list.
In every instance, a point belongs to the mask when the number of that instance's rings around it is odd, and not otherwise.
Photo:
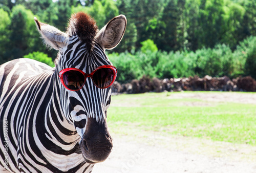
[[(80, 12), (71, 16), (66, 33), (34, 20), (46, 45), (59, 50), (55, 60), (55, 83), (60, 112), (80, 136), (79, 148), (86, 162), (102, 162), (113, 147), (106, 125), (106, 110), (111, 101), (110, 85), (115, 80), (103, 73), (116, 73), (105, 49), (119, 44), (126, 18), (119, 15), (98, 30), (95, 21)], [(95, 73), (98, 74), (95, 76)], [(110, 83), (102, 84), (102, 80), (110, 80)]]

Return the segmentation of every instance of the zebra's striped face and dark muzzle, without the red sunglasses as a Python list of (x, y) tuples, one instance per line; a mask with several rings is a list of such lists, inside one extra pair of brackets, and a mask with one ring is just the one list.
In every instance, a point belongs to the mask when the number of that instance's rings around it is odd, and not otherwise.
[[(81, 41), (78, 41), (76, 45), (80, 46), (71, 48), (74, 51), (72, 54), (80, 55), (80, 57), (77, 56), (68, 64), (62, 63), (60, 59), (61, 68), (77, 68), (90, 74), (97, 67), (111, 65), (104, 51), (97, 44), (90, 53), (87, 53), (88, 50)], [(78, 53), (81, 51), (83, 53)], [(67, 56), (63, 58), (70, 59)], [(78, 91), (67, 90), (60, 84), (60, 95), (65, 96), (63, 100), (61, 99), (62, 107), (66, 108), (63, 112), (74, 124), (81, 138), (79, 146), (84, 159), (88, 163), (104, 161), (113, 147), (106, 125), (106, 111), (111, 101), (111, 88), (100, 89), (95, 86), (92, 78), (87, 77), (83, 87)]]

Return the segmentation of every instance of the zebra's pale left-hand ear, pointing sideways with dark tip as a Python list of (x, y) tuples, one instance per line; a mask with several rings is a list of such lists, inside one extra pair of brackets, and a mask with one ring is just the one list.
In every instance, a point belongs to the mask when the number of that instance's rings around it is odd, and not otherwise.
[(39, 33), (48, 47), (60, 51), (67, 46), (69, 40), (68, 34), (63, 33), (50, 25), (40, 23), (36, 17), (34, 17), (34, 20)]

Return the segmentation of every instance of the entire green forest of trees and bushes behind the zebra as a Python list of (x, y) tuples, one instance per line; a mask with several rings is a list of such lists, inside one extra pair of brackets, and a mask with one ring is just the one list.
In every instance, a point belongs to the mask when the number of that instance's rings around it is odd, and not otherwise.
[(255, 0), (1, 0), (0, 64), (29, 57), (54, 66), (56, 51), (42, 44), (34, 16), (65, 31), (71, 14), (84, 11), (98, 28), (126, 16), (122, 41), (106, 51), (121, 83), (143, 75), (256, 78), (255, 9)]

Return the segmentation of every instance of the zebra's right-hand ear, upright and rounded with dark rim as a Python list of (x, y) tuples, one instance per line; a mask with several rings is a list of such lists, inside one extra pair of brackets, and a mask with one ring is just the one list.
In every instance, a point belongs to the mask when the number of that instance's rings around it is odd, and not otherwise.
[(96, 42), (104, 49), (113, 49), (121, 41), (125, 28), (126, 17), (119, 15), (109, 21), (96, 35)]

